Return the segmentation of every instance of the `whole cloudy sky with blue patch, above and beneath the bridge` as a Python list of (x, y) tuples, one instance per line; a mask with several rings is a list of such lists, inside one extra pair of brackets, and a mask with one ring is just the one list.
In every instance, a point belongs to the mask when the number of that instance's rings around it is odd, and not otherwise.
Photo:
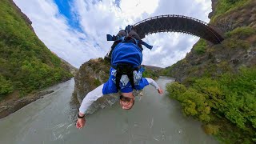
[[(210, 22), (211, 0), (14, 0), (32, 21), (38, 38), (60, 58), (79, 68), (91, 58), (104, 58), (116, 35), (143, 19), (179, 14)], [(167, 67), (185, 58), (198, 37), (182, 33), (146, 35), (143, 65)]]

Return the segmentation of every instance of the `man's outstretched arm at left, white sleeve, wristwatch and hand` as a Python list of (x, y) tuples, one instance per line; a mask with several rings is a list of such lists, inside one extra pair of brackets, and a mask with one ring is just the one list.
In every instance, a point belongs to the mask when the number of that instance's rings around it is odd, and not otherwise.
[(85, 116), (86, 110), (90, 107), (90, 105), (96, 101), (98, 98), (101, 98), (103, 96), (102, 94), (102, 84), (101, 86), (98, 86), (96, 89), (90, 91), (90, 93), (86, 94), (86, 97), (83, 98), (82, 104), (79, 108), (78, 113), (78, 122), (76, 124), (77, 128), (80, 129), (86, 124), (86, 119), (83, 118)]

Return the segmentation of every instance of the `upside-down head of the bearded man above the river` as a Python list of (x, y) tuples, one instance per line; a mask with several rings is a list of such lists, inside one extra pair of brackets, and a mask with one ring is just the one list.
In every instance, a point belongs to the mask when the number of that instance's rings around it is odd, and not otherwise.
[(121, 93), (119, 102), (123, 110), (130, 110), (134, 106), (135, 102), (133, 92)]

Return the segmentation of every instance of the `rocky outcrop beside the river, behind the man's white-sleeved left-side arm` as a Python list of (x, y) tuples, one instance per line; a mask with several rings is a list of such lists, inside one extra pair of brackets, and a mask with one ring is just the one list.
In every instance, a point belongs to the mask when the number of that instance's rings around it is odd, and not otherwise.
[[(74, 102), (78, 105), (82, 102), (91, 90), (94, 90), (97, 86), (106, 82), (110, 73), (110, 63), (104, 61), (102, 58), (90, 59), (80, 66), (78, 73), (74, 77)], [(99, 107), (104, 108), (111, 106), (118, 100), (117, 94), (109, 94), (107, 97), (98, 98), (96, 102), (90, 106), (90, 109), (86, 111), (86, 114), (92, 114)]]

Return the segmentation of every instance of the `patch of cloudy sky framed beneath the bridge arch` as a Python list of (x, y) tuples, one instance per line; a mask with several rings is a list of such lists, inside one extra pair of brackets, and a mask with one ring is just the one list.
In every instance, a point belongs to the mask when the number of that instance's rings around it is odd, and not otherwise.
[(154, 45), (153, 50), (143, 50), (143, 64), (151, 66), (171, 66), (185, 58), (198, 38), (178, 33), (159, 33), (146, 36), (146, 42)]

